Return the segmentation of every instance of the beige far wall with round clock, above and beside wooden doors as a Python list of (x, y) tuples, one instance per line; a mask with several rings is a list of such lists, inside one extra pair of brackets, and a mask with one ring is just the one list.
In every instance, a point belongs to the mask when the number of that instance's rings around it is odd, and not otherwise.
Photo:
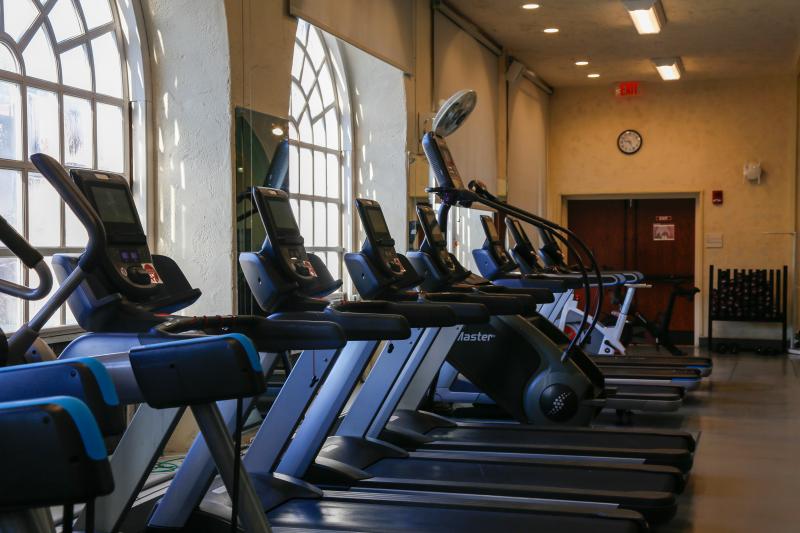
[[(633, 156), (616, 147), (627, 128), (644, 138)], [(796, 154), (794, 76), (647, 84), (631, 98), (605, 84), (559, 89), (550, 105), (550, 215), (562, 219), (569, 195), (698, 193), (697, 259), (705, 277), (709, 264), (792, 268)], [(745, 183), (748, 160), (762, 162), (761, 185)], [(716, 189), (724, 192), (722, 206), (711, 205)], [(709, 232), (723, 234), (723, 248), (702, 247)]]

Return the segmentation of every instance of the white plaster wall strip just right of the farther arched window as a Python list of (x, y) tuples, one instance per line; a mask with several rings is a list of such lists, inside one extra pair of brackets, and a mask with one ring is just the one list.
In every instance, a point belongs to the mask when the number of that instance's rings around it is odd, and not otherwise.
[[(361, 50), (341, 43), (350, 82), (354, 126), (353, 192), (377, 200), (398, 252), (407, 247), (406, 99), (403, 73)], [(358, 214), (353, 213), (354, 219)], [(364, 235), (353, 242), (358, 249)]]

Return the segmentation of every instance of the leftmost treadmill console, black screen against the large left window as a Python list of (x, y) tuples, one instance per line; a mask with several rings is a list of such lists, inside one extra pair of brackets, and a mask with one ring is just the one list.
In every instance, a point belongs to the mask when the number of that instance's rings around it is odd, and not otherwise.
[(156, 292), (164, 282), (153, 263), (127, 179), (94, 170), (72, 170), (71, 174), (103, 222), (106, 274), (124, 292), (138, 296)]

